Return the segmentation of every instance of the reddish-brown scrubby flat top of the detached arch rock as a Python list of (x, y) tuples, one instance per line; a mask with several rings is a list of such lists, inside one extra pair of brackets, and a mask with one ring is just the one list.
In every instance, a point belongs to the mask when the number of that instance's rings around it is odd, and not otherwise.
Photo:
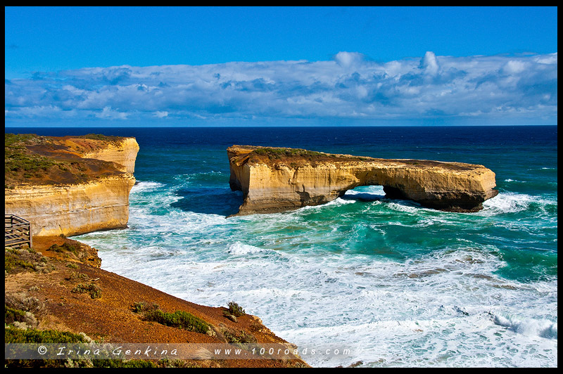
[(345, 163), (374, 163), (395, 165), (398, 167), (412, 167), (420, 169), (439, 168), (448, 172), (465, 172), (475, 169), (485, 169), (483, 165), (472, 165), (462, 162), (441, 162), (434, 160), (412, 159), (384, 159), (367, 156), (340, 155), (333, 153), (316, 152), (300, 148), (261, 147), (261, 146), (231, 146), (227, 148), (229, 161), (236, 165), (265, 164), (276, 166), (286, 164), (291, 167), (302, 165), (317, 166), (324, 163), (342, 165)]

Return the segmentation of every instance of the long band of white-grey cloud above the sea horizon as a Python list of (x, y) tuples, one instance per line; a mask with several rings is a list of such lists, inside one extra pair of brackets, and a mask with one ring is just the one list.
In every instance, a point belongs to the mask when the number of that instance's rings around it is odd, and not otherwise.
[(5, 80), (6, 120), (551, 118), (557, 53), (91, 67)]

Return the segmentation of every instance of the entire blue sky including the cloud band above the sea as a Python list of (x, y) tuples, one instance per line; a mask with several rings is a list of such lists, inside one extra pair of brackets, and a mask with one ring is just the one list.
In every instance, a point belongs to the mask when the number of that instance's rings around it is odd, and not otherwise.
[(6, 126), (557, 124), (557, 8), (5, 8)]

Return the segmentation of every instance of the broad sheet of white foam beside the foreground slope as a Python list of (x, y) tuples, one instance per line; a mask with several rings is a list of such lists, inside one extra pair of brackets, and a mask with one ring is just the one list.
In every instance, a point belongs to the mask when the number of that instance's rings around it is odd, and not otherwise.
[[(221, 259), (213, 249), (218, 246), (208, 248), (213, 252), (210, 257), (203, 252), (158, 257), (148, 269), (129, 264), (124, 275), (199, 304), (224, 306), (236, 299), (248, 313), (260, 316), (274, 333), (301, 349), (328, 343), (355, 349), (348, 364), (514, 366), (531, 348), (551, 362), (557, 360), (557, 349), (537, 340), (548, 337), (557, 344), (556, 322), (550, 325), (548, 318), (535, 318), (539, 322), (533, 333), (533, 323), (486, 318), (491, 310), (495, 316), (507, 316), (520, 309), (529, 319), (540, 313), (557, 318), (556, 282), (543, 284), (541, 294), (533, 287), (507, 283), (493, 274), (503, 264), (494, 251), (452, 248), (407, 262), (365, 256), (310, 257), (297, 252), (279, 261), (279, 257), (248, 256), (268, 251), (235, 240), (223, 248), (228, 248), (229, 255), (243, 256), (244, 261), (232, 262)], [(129, 256), (148, 254), (141, 253)], [(105, 251), (101, 255), (108, 265), (120, 257)], [(113, 265), (127, 262), (130, 258)], [(524, 306), (522, 299), (533, 299), (538, 305)], [(448, 342), (459, 353), (444, 359), (440, 352), (448, 352)], [(509, 347), (514, 354), (505, 354)], [(498, 361), (491, 361), (493, 357)], [(536, 356), (527, 359), (531, 364), (543, 362), (535, 361)], [(323, 356), (306, 360), (312, 366), (343, 364)]]

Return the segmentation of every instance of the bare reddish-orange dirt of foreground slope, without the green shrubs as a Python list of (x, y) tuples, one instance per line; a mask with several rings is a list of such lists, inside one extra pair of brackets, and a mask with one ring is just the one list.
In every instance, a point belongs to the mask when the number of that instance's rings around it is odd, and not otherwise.
[[(49, 273), (22, 271), (6, 276), (6, 295), (23, 293), (37, 297), (44, 302), (46, 314), (40, 318), (39, 329), (56, 329), (72, 333), (85, 333), (96, 341), (128, 343), (223, 343), (221, 335), (209, 336), (181, 328), (144, 321), (132, 311), (135, 302), (152, 302), (165, 312), (187, 311), (214, 326), (214, 330), (227, 328), (243, 331), (255, 337), (258, 343), (288, 344), (274, 335), (259, 318), (243, 315), (235, 323), (223, 315), (227, 308), (205, 307), (187, 302), (165, 292), (148, 287), (104, 271), (98, 267), (84, 264), (93, 263), (96, 250), (82, 244), (78, 254), (48, 250), (53, 244), (78, 243), (60, 237), (34, 237), (33, 247), (49, 258), (52, 265)], [(82, 254), (84, 252), (85, 254)], [(73, 264), (72, 268), (68, 264)], [(77, 266), (77, 267), (75, 267)], [(70, 273), (81, 273), (80, 280), (69, 280)], [(94, 283), (101, 288), (102, 296), (92, 299), (87, 293), (72, 293), (78, 283)], [(225, 304), (229, 300), (225, 300)], [(196, 366), (220, 367), (305, 367), (301, 360), (193, 360)]]

